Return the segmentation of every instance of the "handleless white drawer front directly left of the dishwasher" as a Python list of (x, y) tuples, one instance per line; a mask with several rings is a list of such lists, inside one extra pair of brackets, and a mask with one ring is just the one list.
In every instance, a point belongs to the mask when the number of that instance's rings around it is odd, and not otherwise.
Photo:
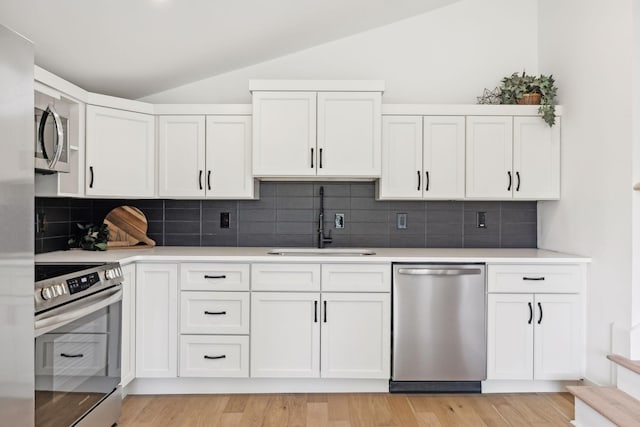
[(389, 264), (323, 264), (322, 290), (391, 292)]

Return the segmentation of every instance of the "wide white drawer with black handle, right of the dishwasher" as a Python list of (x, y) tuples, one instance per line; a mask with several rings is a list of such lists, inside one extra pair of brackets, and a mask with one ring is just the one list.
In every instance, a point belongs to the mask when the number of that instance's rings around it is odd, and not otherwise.
[(577, 264), (503, 264), (487, 266), (489, 292), (579, 293), (581, 268)]

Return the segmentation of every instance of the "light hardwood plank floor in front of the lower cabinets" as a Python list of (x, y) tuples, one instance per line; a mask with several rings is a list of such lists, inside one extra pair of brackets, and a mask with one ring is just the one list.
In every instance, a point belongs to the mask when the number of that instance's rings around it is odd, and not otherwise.
[(127, 396), (130, 426), (569, 426), (569, 393)]

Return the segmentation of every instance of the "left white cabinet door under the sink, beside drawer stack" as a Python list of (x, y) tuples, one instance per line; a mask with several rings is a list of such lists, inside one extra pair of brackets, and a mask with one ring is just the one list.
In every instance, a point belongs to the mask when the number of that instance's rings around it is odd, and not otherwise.
[(319, 305), (318, 293), (252, 293), (252, 377), (319, 377)]

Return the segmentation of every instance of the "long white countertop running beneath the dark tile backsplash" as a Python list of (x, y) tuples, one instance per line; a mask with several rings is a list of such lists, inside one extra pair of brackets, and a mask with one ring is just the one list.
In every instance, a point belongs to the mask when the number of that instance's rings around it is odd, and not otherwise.
[[(57, 251), (36, 255), (38, 263), (114, 262), (487, 262), (586, 263), (590, 258), (542, 249), (366, 248), (375, 255), (269, 255), (274, 248), (158, 246), (144, 249)], [(331, 249), (331, 248), (327, 248)]]

